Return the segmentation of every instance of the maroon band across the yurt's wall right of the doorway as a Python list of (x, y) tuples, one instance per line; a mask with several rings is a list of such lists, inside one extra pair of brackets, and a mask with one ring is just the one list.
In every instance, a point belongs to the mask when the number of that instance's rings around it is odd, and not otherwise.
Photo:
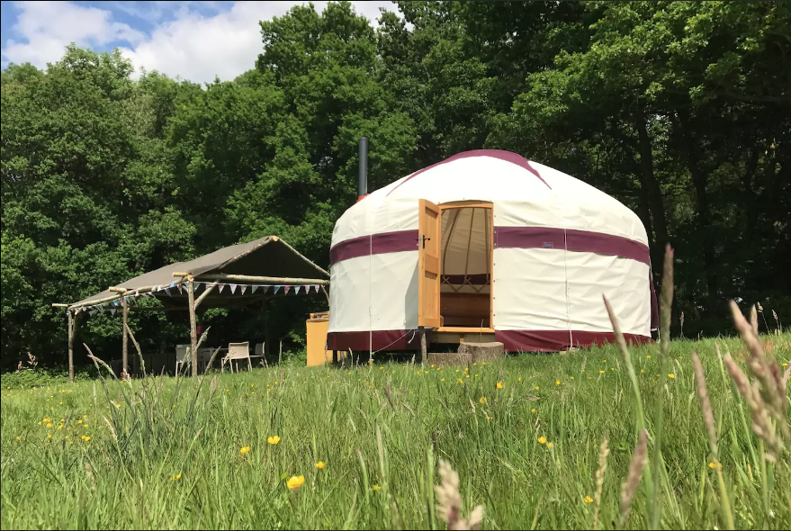
[[(568, 246), (568, 247), (566, 247)], [(495, 227), (494, 247), (548, 248), (637, 260), (648, 266), (648, 246), (622, 236), (553, 227)]]

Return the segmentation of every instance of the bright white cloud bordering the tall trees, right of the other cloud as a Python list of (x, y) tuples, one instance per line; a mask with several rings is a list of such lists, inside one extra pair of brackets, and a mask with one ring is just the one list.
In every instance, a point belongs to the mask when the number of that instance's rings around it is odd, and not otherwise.
[[(184, 11), (172, 22), (157, 27), (135, 48), (122, 49), (135, 67), (159, 70), (195, 82), (215, 76), (233, 79), (255, 66), (261, 52), (258, 21), (282, 16), (303, 2), (237, 2), (225, 13), (211, 17)], [(319, 13), (327, 2), (314, 2)], [(392, 10), (391, 2), (352, 2), (358, 14), (375, 23), (379, 7)]]

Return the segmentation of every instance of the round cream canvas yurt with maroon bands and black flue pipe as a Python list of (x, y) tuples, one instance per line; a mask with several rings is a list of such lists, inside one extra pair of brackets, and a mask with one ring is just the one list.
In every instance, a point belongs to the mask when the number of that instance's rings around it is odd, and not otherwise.
[(420, 330), (429, 346), (589, 347), (613, 339), (602, 294), (627, 340), (651, 340), (648, 238), (607, 193), (496, 149), (363, 193), (332, 234), (329, 349), (417, 350)]

